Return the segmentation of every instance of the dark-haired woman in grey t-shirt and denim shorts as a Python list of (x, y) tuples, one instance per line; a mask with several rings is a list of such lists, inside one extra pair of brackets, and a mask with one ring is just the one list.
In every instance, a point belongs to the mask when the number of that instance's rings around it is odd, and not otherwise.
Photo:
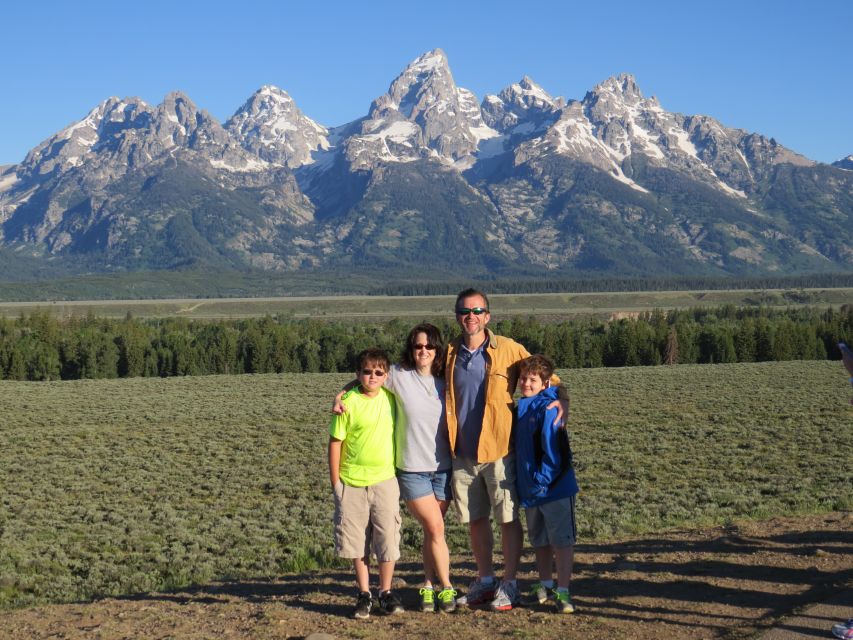
[[(444, 515), (450, 505), (452, 463), (444, 416), (444, 340), (437, 327), (419, 324), (406, 338), (401, 363), (393, 365), (385, 387), (397, 397), (394, 428), (397, 480), (409, 512), (423, 528), (424, 586), (421, 609), (456, 609), (450, 582), (450, 552)], [(341, 394), (336, 413), (343, 411)]]

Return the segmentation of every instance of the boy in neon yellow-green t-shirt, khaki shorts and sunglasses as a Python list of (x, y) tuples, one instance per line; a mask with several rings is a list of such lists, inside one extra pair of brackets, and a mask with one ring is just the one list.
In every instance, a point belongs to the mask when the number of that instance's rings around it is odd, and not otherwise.
[(382, 384), (391, 362), (381, 349), (358, 355), (359, 386), (329, 427), (329, 480), (335, 494), (335, 550), (353, 561), (359, 594), (353, 613), (370, 617), (370, 552), (379, 563), (379, 608), (401, 613), (391, 591), (400, 557), (400, 489), (394, 470), (394, 395)]

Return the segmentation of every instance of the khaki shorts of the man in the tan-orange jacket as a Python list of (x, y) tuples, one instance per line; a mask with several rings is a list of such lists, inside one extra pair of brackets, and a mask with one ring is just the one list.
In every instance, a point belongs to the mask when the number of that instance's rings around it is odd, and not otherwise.
[(453, 459), (453, 503), (462, 522), (488, 518), (504, 524), (518, 518), (515, 489), (515, 454), (477, 464)]

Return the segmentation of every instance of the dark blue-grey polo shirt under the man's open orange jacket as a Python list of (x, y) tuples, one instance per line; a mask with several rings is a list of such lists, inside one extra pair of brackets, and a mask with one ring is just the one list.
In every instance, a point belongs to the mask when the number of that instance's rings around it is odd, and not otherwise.
[(456, 398), (456, 455), (477, 459), (483, 415), (486, 410), (486, 345), (470, 351), (459, 345), (453, 364), (453, 394)]

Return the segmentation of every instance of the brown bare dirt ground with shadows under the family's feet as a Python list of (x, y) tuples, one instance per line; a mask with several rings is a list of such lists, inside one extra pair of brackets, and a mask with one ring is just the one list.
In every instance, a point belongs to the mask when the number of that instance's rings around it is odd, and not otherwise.
[[(473, 576), (470, 557), (453, 568), (460, 585)], [(526, 554), (522, 588), (532, 571)], [(410, 610), (393, 617), (351, 619), (351, 574), (325, 571), (8, 611), (0, 638), (747, 638), (853, 585), (853, 513), (578, 545), (573, 615), (420, 613), (418, 564), (398, 573)]]

